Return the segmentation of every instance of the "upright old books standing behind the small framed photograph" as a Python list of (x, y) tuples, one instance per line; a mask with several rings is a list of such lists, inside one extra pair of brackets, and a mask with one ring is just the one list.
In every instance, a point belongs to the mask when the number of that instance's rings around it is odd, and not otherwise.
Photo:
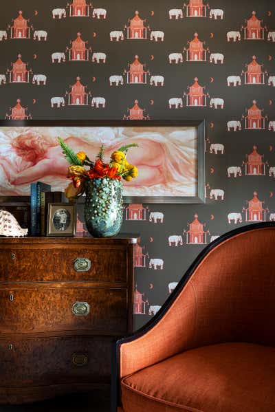
[(35, 182), (30, 185), (30, 235), (45, 236), (50, 203), (67, 202), (63, 192), (51, 192), (50, 184)]

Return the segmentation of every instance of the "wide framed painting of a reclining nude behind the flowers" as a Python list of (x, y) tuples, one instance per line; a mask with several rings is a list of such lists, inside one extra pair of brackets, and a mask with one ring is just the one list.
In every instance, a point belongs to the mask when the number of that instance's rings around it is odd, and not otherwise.
[(74, 151), (104, 159), (123, 144), (137, 143), (127, 158), (139, 175), (124, 182), (125, 203), (203, 203), (204, 120), (29, 120), (0, 122), (0, 195), (29, 195), (40, 180), (63, 191), (67, 161), (60, 136)]

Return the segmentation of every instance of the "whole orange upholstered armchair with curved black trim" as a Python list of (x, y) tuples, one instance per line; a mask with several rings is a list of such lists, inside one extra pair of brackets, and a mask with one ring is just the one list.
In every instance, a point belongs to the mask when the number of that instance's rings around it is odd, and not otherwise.
[(112, 412), (275, 411), (275, 224), (210, 243), (154, 318), (118, 340)]

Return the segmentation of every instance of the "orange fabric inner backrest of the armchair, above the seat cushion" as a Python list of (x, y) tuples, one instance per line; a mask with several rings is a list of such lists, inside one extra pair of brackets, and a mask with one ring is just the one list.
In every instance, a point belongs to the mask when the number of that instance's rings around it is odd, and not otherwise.
[(187, 349), (230, 341), (275, 345), (275, 228), (212, 249), (159, 322), (120, 347), (120, 378)]

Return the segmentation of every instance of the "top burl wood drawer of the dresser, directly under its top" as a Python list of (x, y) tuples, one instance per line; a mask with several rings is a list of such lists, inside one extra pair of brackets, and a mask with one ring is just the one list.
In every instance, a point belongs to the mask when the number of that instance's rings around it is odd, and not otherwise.
[(0, 281), (126, 282), (126, 248), (18, 248), (0, 250)]

